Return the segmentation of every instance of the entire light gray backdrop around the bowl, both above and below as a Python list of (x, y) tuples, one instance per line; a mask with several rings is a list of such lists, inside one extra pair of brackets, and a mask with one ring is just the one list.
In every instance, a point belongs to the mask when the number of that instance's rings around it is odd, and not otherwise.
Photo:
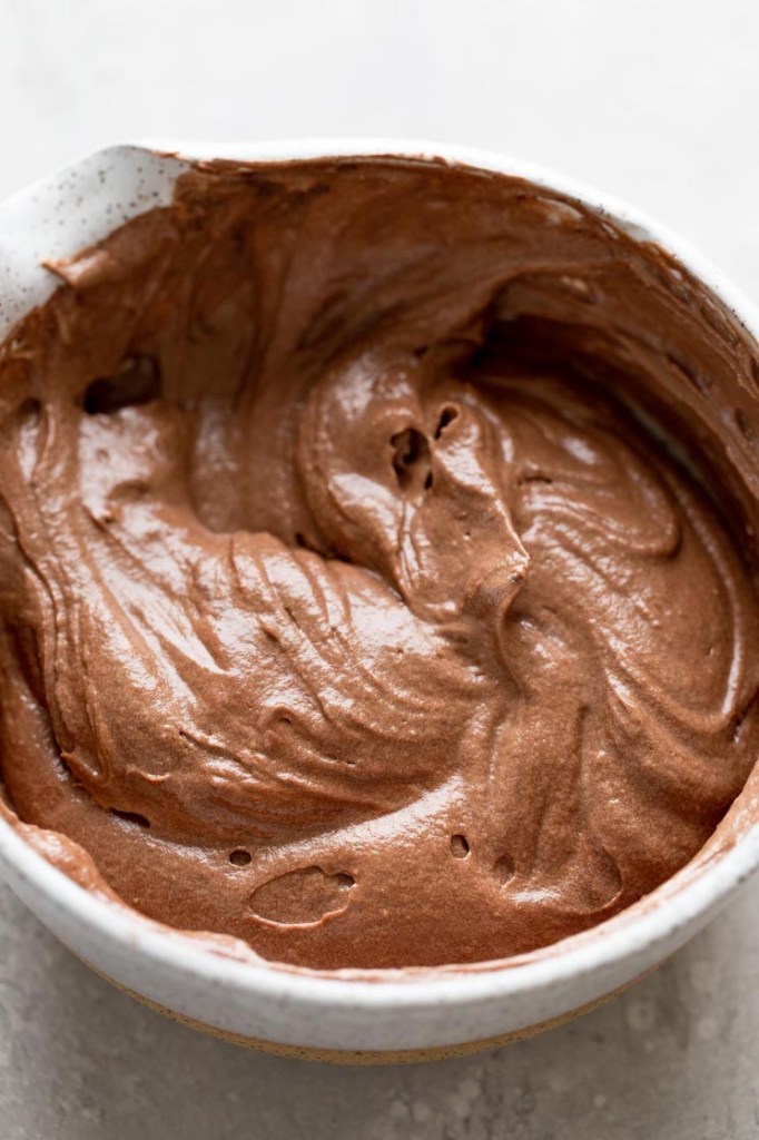
[[(554, 165), (759, 300), (757, 0), (0, 0), (0, 195), (105, 142), (397, 135)], [(384, 1070), (148, 1012), (0, 891), (2, 1140), (754, 1140), (759, 883), (542, 1039)]]

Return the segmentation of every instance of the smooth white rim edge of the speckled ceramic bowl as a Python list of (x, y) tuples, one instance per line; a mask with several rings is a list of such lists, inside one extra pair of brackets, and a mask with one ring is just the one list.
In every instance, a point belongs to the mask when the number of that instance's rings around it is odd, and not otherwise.
[[(759, 310), (729, 278), (699, 253), (687, 241), (644, 211), (607, 195), (594, 186), (557, 173), (547, 166), (448, 142), (403, 138), (307, 138), (261, 142), (212, 142), (203, 140), (146, 139), (117, 142), (82, 156), (26, 189), (0, 203), (0, 231), (6, 204), (32, 198), (39, 187), (48, 186), (64, 171), (74, 171), (97, 156), (120, 152), (152, 152), (183, 161), (212, 158), (232, 162), (288, 162), (320, 157), (382, 156), (442, 160), (491, 173), (524, 178), (538, 187), (558, 192), (597, 213), (609, 217), (638, 241), (653, 242), (689, 270), (733, 314), (750, 336), (759, 339)], [(146, 209), (148, 209), (146, 204)], [(139, 211), (138, 211), (139, 212)], [(430, 1005), (476, 1004), (557, 986), (587, 977), (603, 969), (619, 967), (644, 951), (662, 953), (680, 933), (694, 923), (704, 923), (759, 870), (759, 824), (753, 825), (729, 849), (719, 853), (697, 876), (686, 866), (666, 880), (647, 898), (651, 904), (629, 917), (628, 911), (580, 935), (547, 947), (533, 960), (500, 959), (493, 962), (443, 969), (307, 971), (280, 963), (237, 959), (220, 952), (202, 937), (162, 927), (139, 912), (114, 904), (105, 896), (81, 887), (49, 863), (0, 817), (0, 871), (10, 870), (9, 880), (26, 883), (32, 893), (52, 901), (56, 907), (74, 917), (93, 936), (116, 940), (130, 952), (179, 974), (194, 976), (210, 985), (221, 985), (271, 1000), (296, 1000), (313, 1010), (366, 1009), (389, 1005), (403, 1011)], [(678, 880), (683, 880), (678, 883)], [(677, 889), (672, 887), (677, 886)], [(663, 904), (658, 896), (667, 891)], [(627, 919), (626, 919), (627, 917)], [(549, 952), (548, 952), (549, 951)]]

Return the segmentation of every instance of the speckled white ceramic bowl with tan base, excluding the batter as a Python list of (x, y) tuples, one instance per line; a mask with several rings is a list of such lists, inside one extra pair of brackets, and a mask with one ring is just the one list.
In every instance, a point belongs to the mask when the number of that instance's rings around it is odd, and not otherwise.
[[(479, 150), (398, 139), (111, 147), (0, 205), (0, 337), (55, 282), (40, 262), (75, 253), (171, 198), (193, 158), (438, 156), (529, 178), (664, 246), (759, 335), (759, 314), (684, 242), (636, 210), (563, 177)], [(181, 157), (176, 157), (181, 155)], [(759, 392), (757, 393), (759, 399)], [(527, 1035), (626, 986), (703, 927), (759, 868), (759, 773), (733, 807), (737, 841), (696, 860), (631, 910), (549, 953), (372, 979), (238, 961), (76, 886), (0, 820), (0, 873), (42, 922), (134, 995), (211, 1032), (280, 1052), (344, 1060), (422, 1059)]]

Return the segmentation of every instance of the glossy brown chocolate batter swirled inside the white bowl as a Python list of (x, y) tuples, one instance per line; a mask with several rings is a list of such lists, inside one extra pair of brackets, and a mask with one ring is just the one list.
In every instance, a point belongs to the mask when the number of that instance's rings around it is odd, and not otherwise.
[(0, 359), (0, 746), (72, 873), (434, 966), (702, 847), (759, 746), (759, 372), (701, 286), (392, 160), (198, 168), (52, 268)]

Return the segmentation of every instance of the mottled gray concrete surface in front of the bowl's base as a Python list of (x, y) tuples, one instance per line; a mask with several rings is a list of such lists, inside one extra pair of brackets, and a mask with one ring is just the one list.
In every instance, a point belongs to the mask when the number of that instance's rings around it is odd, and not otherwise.
[(202, 1036), (0, 891), (2, 1140), (756, 1140), (759, 883), (656, 974), (532, 1041), (351, 1069)]

